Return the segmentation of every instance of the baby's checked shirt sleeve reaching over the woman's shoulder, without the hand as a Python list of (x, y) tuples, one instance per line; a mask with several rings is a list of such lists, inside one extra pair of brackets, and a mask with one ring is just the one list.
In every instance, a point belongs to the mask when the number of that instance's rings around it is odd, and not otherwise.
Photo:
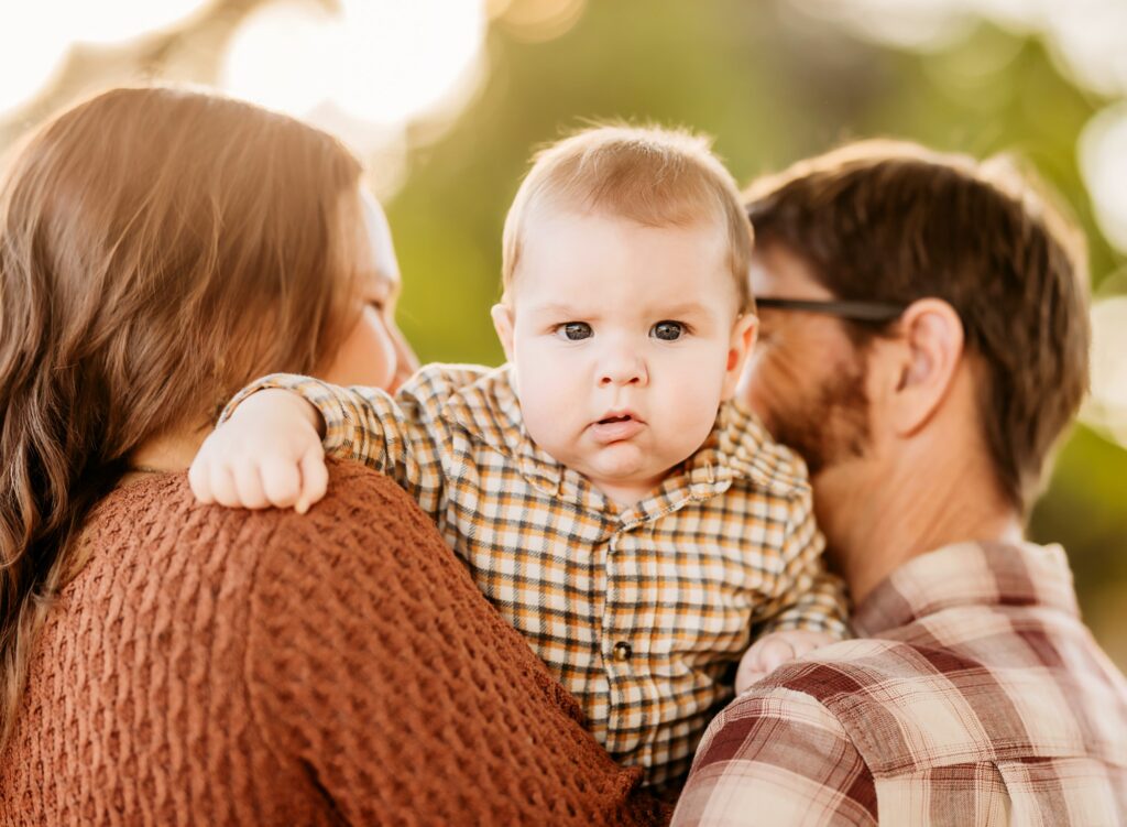
[(394, 480), (423, 510), (437, 518), (443, 508), (444, 475), (437, 431), (424, 393), (410, 382), (396, 398), (379, 388), (340, 387), (308, 376), (272, 373), (240, 390), (220, 416), (230, 417), (248, 396), (267, 388), (299, 394), (325, 420), (326, 454), (356, 459)]

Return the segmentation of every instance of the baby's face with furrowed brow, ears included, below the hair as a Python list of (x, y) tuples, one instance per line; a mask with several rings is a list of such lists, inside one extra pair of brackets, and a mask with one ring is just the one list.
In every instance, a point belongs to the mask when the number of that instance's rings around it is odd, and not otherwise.
[(545, 210), (494, 322), (529, 436), (629, 505), (704, 441), (755, 332), (719, 222)]

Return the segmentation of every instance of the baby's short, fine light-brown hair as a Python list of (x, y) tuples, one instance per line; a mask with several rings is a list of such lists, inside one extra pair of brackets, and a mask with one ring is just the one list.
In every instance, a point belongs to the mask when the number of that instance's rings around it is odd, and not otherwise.
[(505, 220), (506, 293), (529, 218), (542, 205), (623, 218), (644, 227), (718, 222), (728, 234), (739, 309), (754, 309), (748, 287), (752, 228), (736, 182), (702, 135), (656, 126), (594, 126), (538, 152)]

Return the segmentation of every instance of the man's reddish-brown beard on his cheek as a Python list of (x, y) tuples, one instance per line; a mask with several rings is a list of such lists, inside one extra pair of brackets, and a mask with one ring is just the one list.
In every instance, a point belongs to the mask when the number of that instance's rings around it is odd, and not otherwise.
[(810, 476), (864, 456), (870, 442), (864, 381), (861, 366), (844, 363), (806, 398), (770, 406), (767, 429), (806, 460)]

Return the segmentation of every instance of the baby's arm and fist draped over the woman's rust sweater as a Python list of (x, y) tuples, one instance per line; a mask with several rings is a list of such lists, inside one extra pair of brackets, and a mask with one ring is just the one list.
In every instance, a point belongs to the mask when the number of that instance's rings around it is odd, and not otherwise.
[(294, 505), (325, 495), (326, 451), (387, 473), (432, 514), (442, 490), (434, 423), (403, 389), (400, 405), (375, 388), (343, 388), (274, 375), (240, 391), (204, 441), (189, 472), (202, 502)]

